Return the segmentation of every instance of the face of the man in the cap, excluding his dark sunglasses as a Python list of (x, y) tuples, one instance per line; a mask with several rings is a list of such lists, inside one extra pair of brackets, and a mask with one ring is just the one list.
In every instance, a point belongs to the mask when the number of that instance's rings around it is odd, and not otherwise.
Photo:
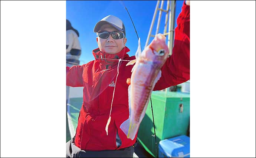
[[(101, 26), (99, 31), (112, 32), (112, 31), (118, 31), (118, 30), (116, 30), (116, 28), (112, 27), (109, 24), (105, 24)], [(98, 43), (99, 50), (105, 51), (106, 53), (109, 53), (109, 54), (115, 54), (124, 48), (127, 39), (121, 38), (121, 39), (115, 40), (111, 35), (109, 35), (108, 38), (106, 39), (97, 37), (96, 41)]]

